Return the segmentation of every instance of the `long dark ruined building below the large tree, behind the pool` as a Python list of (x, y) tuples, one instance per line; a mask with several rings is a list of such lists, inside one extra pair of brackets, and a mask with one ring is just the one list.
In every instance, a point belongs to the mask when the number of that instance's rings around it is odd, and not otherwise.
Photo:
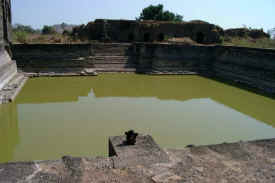
[(166, 22), (97, 19), (74, 29), (82, 39), (111, 42), (153, 42), (189, 37), (198, 43), (220, 43), (223, 29), (203, 21)]

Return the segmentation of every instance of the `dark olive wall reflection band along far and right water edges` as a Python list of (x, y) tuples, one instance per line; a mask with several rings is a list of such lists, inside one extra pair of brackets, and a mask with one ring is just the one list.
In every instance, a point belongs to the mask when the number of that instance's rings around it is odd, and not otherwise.
[(77, 102), (91, 91), (97, 98), (155, 97), (177, 101), (211, 98), (275, 127), (273, 99), (197, 76), (115, 74), (94, 78), (38, 78), (27, 83), (17, 103)]

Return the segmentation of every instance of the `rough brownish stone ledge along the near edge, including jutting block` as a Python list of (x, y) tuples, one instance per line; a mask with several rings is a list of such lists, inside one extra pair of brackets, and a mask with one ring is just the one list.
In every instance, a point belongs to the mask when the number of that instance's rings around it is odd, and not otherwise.
[(0, 164), (0, 182), (275, 181), (275, 139), (162, 149), (149, 135), (127, 146), (109, 138), (110, 157)]

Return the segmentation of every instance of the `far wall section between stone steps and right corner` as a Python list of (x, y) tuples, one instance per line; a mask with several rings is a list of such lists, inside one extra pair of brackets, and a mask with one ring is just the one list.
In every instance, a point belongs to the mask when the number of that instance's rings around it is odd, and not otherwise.
[(213, 58), (211, 46), (137, 44), (140, 72), (200, 73)]

